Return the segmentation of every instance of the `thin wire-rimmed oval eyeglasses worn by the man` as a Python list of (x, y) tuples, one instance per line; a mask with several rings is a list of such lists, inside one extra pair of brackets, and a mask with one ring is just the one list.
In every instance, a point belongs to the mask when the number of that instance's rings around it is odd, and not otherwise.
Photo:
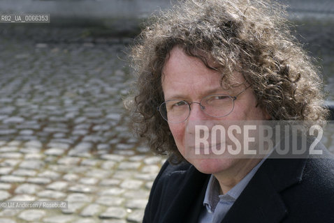
[(191, 111), (191, 104), (200, 105), (202, 111), (212, 118), (222, 118), (228, 116), (234, 109), (234, 101), (238, 96), (246, 91), (247, 88), (236, 96), (226, 94), (215, 94), (205, 96), (201, 102), (187, 102), (185, 100), (168, 100), (162, 102), (157, 110), (160, 112), (162, 118), (168, 123), (182, 123), (187, 120)]

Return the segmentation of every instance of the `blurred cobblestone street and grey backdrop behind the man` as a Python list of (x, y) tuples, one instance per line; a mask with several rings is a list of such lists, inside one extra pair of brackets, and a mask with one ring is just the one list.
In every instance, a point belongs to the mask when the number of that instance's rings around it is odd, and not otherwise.
[[(333, 102), (334, 1), (282, 2)], [(0, 208), (0, 222), (141, 222), (166, 157), (127, 127), (127, 53), (147, 17), (172, 3), (0, 1), (0, 14), (50, 14), (45, 24), (0, 23), (0, 201), (68, 201), (64, 210)], [(324, 137), (331, 151), (333, 133)]]

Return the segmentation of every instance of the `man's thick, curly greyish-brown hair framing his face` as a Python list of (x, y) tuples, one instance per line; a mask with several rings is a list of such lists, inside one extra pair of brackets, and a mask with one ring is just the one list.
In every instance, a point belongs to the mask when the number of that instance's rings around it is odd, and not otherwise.
[(131, 52), (138, 75), (131, 118), (140, 137), (183, 160), (156, 109), (164, 102), (161, 70), (175, 46), (206, 66), (213, 59), (224, 82), (241, 72), (273, 120), (324, 121), (321, 77), (285, 17), (284, 6), (269, 0), (186, 0), (152, 17)]

